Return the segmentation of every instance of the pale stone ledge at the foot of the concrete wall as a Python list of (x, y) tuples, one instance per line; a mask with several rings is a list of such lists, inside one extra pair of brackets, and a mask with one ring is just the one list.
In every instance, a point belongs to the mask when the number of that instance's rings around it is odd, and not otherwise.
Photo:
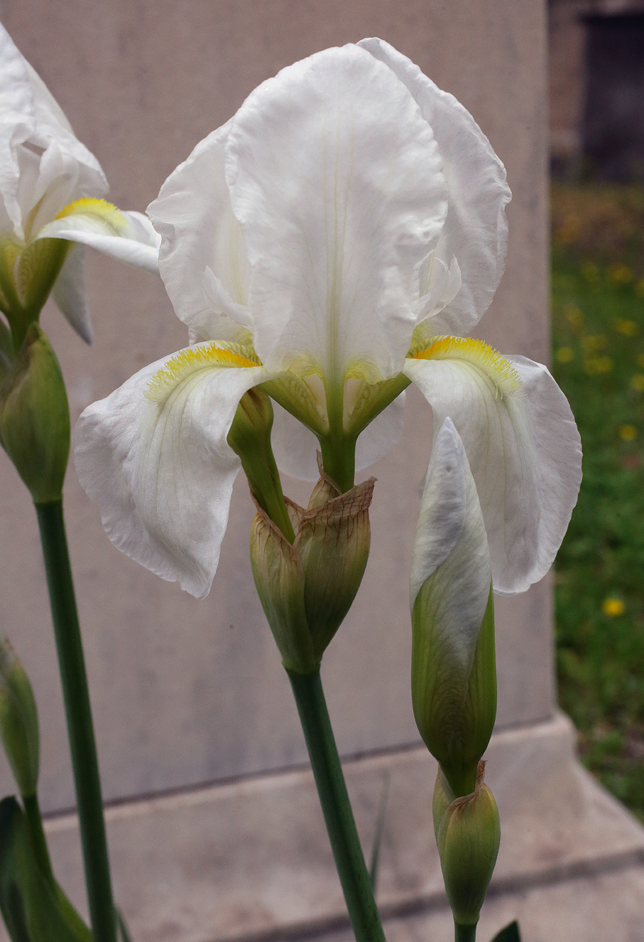
[[(496, 733), (487, 759), (502, 841), (486, 911), (644, 863), (644, 829), (576, 763), (573, 726), (561, 714)], [(432, 757), (418, 747), (351, 759), (344, 769), (367, 853), (389, 779), (378, 889), (387, 922), (448, 918)], [(121, 804), (107, 809), (107, 821), (118, 904), (137, 942), (269, 942), (342, 934), (347, 925), (308, 770)], [(81, 902), (75, 816), (49, 820), (46, 830), (56, 873)]]

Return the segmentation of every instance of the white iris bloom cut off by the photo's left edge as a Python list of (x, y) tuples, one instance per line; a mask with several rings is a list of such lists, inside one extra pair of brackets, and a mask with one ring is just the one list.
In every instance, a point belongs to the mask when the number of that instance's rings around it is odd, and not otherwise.
[(0, 310), (24, 333), (53, 287), (89, 342), (83, 244), (158, 271), (159, 238), (142, 213), (102, 199), (108, 185), (98, 160), (2, 24), (0, 114)]

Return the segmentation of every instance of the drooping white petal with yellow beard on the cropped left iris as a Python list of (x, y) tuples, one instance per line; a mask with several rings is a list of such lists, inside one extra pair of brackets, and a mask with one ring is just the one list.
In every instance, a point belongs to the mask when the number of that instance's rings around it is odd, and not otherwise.
[(149, 219), (143, 213), (123, 212), (105, 200), (75, 200), (44, 225), (36, 238), (81, 242), (134, 268), (159, 270), (160, 238)]

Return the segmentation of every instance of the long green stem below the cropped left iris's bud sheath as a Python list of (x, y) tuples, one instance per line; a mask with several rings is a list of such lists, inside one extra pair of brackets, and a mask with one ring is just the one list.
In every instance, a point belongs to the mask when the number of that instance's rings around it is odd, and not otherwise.
[(70, 737), (78, 818), (94, 942), (116, 942), (112, 884), (102, 817), (101, 780), (62, 500), (37, 504), (55, 642)]

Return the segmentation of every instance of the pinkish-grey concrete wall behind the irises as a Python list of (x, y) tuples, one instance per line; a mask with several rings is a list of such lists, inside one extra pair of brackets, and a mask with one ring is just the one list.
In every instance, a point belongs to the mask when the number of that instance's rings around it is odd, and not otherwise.
[[(0, 19), (86, 145), (112, 199), (144, 209), (196, 141), (279, 68), (325, 46), (380, 35), (473, 113), (508, 168), (508, 268), (480, 335), (547, 357), (545, 19), (536, 0), (0, 0)], [(96, 342), (44, 316), (73, 417), (141, 365), (185, 345), (163, 285), (89, 259)], [(409, 694), (407, 577), (431, 416), (410, 397), (401, 447), (372, 470), (372, 553), (354, 609), (324, 660), (340, 750), (418, 741)], [(222, 564), (197, 602), (103, 534), (70, 470), (66, 507), (108, 800), (181, 789), (305, 760), (286, 675), (248, 560), (252, 508), (238, 482)], [(301, 484), (285, 490), (304, 498)], [(42, 725), (41, 798), (73, 804), (36, 521), (0, 455), (0, 626), (24, 659)], [(552, 709), (547, 584), (498, 604), (499, 723)], [(0, 760), (0, 793), (12, 788)]]

